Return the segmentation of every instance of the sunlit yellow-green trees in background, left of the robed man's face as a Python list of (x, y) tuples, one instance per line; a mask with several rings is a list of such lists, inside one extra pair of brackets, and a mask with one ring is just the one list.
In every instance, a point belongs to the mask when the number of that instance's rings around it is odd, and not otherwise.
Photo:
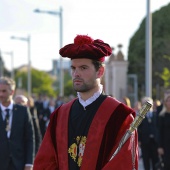
[[(10, 77), (10, 72), (5, 76)], [(24, 95), (27, 95), (27, 69), (15, 70), (16, 88), (24, 91)], [(64, 96), (75, 95), (75, 91), (72, 86), (71, 74), (69, 70), (64, 70)], [(39, 71), (36, 69), (31, 70), (31, 91), (32, 94), (46, 94), (48, 96), (57, 97), (59, 94), (60, 82), (56, 77), (52, 77), (49, 73)]]

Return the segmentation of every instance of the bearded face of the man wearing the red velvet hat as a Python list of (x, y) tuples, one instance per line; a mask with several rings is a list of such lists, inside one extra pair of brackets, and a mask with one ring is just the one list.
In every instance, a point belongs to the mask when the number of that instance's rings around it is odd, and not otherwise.
[(71, 60), (72, 80), (74, 90), (87, 92), (97, 86), (98, 71), (95, 70), (90, 59)]

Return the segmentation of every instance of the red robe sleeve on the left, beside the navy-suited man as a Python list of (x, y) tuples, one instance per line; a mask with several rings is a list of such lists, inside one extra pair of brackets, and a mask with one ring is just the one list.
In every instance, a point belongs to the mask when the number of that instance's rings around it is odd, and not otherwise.
[(57, 110), (51, 115), (50, 123), (39, 148), (39, 151), (34, 160), (33, 170), (58, 170), (58, 161), (56, 150), (53, 145), (51, 136), (51, 128), (54, 127), (55, 114)]

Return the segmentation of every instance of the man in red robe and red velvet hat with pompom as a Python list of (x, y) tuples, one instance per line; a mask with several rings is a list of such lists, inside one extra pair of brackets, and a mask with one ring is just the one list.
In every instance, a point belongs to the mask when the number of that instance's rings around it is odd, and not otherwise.
[(57, 108), (34, 161), (34, 170), (137, 170), (137, 132), (112, 158), (135, 112), (103, 93), (104, 59), (112, 53), (102, 40), (78, 35), (60, 49), (71, 59), (77, 98)]

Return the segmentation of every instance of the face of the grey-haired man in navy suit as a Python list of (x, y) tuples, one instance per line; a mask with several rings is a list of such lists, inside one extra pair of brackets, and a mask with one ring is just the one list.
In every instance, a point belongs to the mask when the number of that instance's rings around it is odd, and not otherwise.
[(3, 105), (10, 103), (13, 92), (14, 91), (10, 89), (9, 85), (0, 84), (0, 102)]

